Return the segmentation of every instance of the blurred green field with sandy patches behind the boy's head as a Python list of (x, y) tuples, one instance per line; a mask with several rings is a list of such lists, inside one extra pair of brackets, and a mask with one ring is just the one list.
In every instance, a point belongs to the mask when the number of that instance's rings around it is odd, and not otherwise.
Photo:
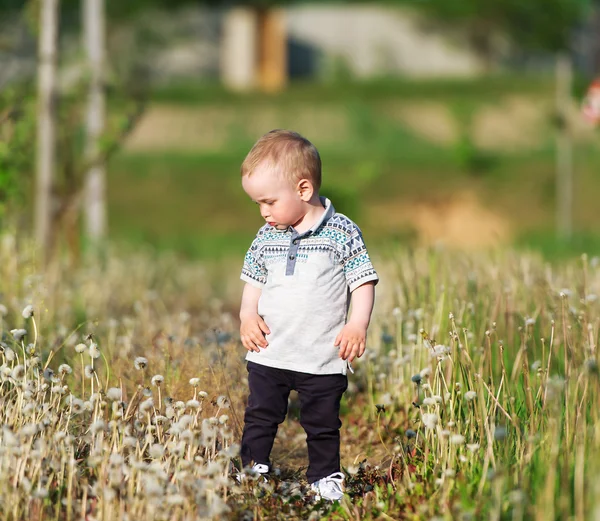
[(575, 235), (555, 240), (552, 76), (293, 83), (278, 95), (183, 84), (149, 94), (108, 168), (111, 238), (188, 258), (243, 255), (260, 226), (239, 170), (256, 139), (291, 128), (323, 160), (323, 194), (373, 247), (443, 240), (517, 246), (548, 257), (600, 253), (600, 147), (577, 86)]

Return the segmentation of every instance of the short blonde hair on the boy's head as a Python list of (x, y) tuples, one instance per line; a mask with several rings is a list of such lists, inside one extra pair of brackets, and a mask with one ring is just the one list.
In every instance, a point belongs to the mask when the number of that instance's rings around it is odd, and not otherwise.
[(293, 184), (308, 179), (318, 191), (321, 187), (321, 157), (305, 137), (291, 130), (271, 130), (252, 147), (242, 163), (242, 177), (252, 175), (267, 162)]

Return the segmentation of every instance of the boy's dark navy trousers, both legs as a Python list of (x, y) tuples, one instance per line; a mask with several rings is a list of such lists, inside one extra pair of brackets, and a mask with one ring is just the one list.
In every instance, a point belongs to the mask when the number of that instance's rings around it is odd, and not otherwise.
[(277, 427), (285, 420), (290, 391), (298, 392), (300, 424), (306, 431), (309, 483), (340, 471), (340, 400), (343, 374), (315, 375), (248, 362), (248, 406), (244, 415), (242, 464), (270, 465)]

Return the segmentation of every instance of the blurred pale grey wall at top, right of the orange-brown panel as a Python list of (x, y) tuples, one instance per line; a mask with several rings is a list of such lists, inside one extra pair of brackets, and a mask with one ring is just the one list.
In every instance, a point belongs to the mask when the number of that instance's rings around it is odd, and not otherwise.
[[(290, 41), (320, 56), (323, 75), (335, 72), (336, 64), (357, 77), (469, 76), (483, 70), (466, 42), (434, 32), (405, 9), (297, 6), (287, 9), (287, 23)], [(301, 59), (293, 52), (291, 58)]]

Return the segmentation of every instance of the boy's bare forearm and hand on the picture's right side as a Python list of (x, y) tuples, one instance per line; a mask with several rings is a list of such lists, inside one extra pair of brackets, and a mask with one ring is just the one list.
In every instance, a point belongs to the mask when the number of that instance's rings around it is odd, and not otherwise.
[(340, 358), (352, 362), (365, 352), (367, 328), (371, 321), (374, 302), (374, 282), (366, 282), (352, 292), (352, 314), (334, 344), (340, 348)]

